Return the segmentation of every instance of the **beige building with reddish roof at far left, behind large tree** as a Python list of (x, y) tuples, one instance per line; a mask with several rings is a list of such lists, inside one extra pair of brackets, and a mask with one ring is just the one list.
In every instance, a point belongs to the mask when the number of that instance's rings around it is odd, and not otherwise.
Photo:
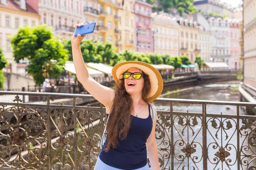
[(0, 1), (0, 48), (10, 64), (3, 71), (25, 74), (27, 64), (14, 61), (10, 40), (20, 26), (34, 26), (39, 19), (38, 13), (25, 0)]

